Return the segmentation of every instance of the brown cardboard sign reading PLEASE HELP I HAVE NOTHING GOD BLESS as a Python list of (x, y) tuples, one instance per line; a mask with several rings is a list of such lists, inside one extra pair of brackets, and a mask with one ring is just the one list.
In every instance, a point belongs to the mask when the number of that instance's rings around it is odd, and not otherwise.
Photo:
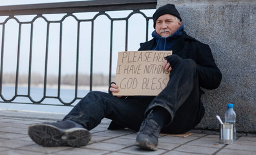
[(162, 67), (172, 51), (118, 52), (114, 96), (157, 96), (169, 81), (169, 71)]

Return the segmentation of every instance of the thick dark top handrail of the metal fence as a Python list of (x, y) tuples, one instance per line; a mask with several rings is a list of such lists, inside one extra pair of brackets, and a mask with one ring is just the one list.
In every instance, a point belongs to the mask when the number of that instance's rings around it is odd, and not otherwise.
[[(157, 0), (99, 0), (63, 3), (42, 3), (33, 5), (0, 6), (0, 16), (31, 14), (61, 14), (74, 12), (101, 12), (112, 10), (138, 10), (156, 8)], [(100, 7), (99, 7), (100, 6)], [(143, 6), (143, 7), (142, 7)], [(100, 8), (100, 10), (99, 10)]]

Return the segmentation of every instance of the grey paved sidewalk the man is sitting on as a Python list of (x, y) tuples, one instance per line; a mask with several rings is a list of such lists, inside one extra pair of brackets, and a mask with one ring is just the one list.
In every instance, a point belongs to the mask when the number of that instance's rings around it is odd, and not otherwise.
[[(0, 110), (0, 154), (59, 154), (59, 155), (127, 155), (127, 154), (256, 154), (256, 136), (240, 136), (232, 145), (219, 143), (219, 133), (193, 130), (186, 138), (162, 134), (157, 151), (145, 151), (134, 146), (133, 130), (107, 130), (109, 119), (91, 130), (92, 139), (85, 147), (41, 147), (27, 134), (28, 125), (63, 118), (61, 114)], [(202, 134), (203, 133), (203, 134)]]

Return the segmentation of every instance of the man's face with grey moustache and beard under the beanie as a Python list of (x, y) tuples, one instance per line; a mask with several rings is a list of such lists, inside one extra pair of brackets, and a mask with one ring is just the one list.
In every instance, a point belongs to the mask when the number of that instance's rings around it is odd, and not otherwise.
[(170, 14), (164, 14), (156, 20), (156, 33), (161, 37), (169, 37), (178, 30), (181, 23), (176, 17)]

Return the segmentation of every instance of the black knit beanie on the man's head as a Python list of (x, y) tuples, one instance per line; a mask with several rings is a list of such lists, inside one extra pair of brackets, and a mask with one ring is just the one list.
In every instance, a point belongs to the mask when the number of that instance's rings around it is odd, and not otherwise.
[(180, 14), (178, 13), (178, 10), (175, 8), (175, 5), (167, 4), (156, 9), (155, 14), (153, 14), (154, 28), (156, 28), (156, 20), (158, 19), (158, 17), (164, 14), (171, 14), (180, 19), (180, 21), (182, 21)]

